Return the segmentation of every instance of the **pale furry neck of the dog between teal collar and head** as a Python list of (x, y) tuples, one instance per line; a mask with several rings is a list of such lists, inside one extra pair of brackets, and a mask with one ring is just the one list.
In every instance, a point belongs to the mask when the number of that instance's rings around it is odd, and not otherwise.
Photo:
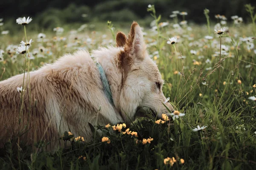
[(122, 50), (122, 48), (109, 47), (92, 51), (92, 56), (95, 57), (96, 61), (102, 65), (102, 68), (105, 71), (111, 88), (114, 107), (119, 113), (121, 112), (121, 108), (119, 107), (119, 99), (121, 95), (122, 73), (116, 65), (116, 60), (120, 50)]

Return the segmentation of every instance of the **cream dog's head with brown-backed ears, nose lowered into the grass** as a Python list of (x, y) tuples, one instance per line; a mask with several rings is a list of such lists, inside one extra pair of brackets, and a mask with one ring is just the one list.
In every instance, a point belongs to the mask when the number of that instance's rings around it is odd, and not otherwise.
[[(123, 47), (118, 58), (118, 65), (122, 70), (122, 85), (119, 99), (120, 111), (125, 121), (134, 118), (140, 107), (150, 108), (161, 117), (162, 113), (169, 115), (163, 105), (166, 97), (163, 94), (163, 79), (157, 65), (148, 57), (143, 32), (134, 22), (128, 38), (119, 32), (116, 35), (116, 46)], [(172, 105), (165, 104), (170, 111)]]

